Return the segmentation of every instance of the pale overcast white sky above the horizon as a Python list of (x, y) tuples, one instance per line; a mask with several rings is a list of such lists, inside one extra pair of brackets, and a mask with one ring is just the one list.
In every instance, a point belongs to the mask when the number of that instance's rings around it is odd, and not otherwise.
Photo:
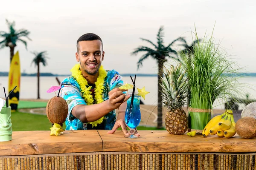
[[(156, 60), (132, 56), (140, 45), (153, 48), (140, 37), (156, 43), (160, 26), (164, 26), (164, 42), (177, 37), (192, 42), (191, 31), (210, 35), (230, 55), (243, 72), (256, 72), (256, 1), (247, 0), (5, 0), (0, 6), (0, 31), (8, 31), (6, 19), (15, 21), (16, 29), (31, 32), (25, 46), (18, 42), (21, 72), (35, 73), (31, 51), (47, 51), (48, 65), (41, 72), (70, 74), (75, 65), (76, 40), (85, 33), (102, 38), (105, 69), (120, 74), (157, 74)], [(215, 23), (216, 22), (216, 23)], [(0, 41), (2, 39), (0, 38)], [(24, 38), (26, 40), (26, 38)], [(179, 43), (172, 46), (182, 48)], [(0, 71), (9, 71), (9, 48), (0, 50)], [(175, 64), (168, 60), (168, 64)]]

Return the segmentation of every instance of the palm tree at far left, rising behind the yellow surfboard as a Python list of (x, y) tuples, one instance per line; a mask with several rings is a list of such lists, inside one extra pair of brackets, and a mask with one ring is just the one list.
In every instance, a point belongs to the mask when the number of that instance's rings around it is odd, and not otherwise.
[(26, 37), (28, 40), (31, 40), (28, 35), (30, 32), (26, 29), (20, 29), (20, 30), (15, 30), (15, 22), (10, 23), (8, 20), (6, 20), (6, 23), (9, 28), (9, 33), (5, 31), (0, 31), (0, 37), (3, 37), (4, 40), (0, 41), (0, 49), (4, 47), (9, 47), (10, 48), (10, 61), (12, 61), (12, 57), (14, 55), (14, 48), (17, 46), (17, 42), (22, 42), (26, 49), (27, 49), (27, 42), (20, 39), (21, 37)]

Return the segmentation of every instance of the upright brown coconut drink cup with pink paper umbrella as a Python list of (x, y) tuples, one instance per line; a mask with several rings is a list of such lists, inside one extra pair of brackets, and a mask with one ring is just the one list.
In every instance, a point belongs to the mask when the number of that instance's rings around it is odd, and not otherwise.
[(67, 113), (67, 102), (62, 97), (54, 96), (47, 103), (46, 114), (51, 123), (62, 124), (67, 118)]

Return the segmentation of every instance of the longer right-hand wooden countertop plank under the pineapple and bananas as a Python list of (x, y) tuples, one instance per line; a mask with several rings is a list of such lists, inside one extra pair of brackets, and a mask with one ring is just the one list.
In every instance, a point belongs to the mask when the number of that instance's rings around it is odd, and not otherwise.
[[(217, 135), (194, 137), (171, 135), (166, 130), (140, 130), (141, 138), (128, 139), (121, 130), (108, 134), (98, 130), (104, 152), (155, 152), (155, 153), (251, 153), (256, 152), (256, 138), (220, 138)], [(153, 133), (151, 133), (153, 132)]]

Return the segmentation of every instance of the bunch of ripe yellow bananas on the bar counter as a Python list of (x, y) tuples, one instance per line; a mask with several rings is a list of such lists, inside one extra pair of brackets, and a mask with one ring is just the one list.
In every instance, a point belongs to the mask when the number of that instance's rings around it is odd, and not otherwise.
[(219, 137), (231, 138), (236, 134), (235, 126), (233, 111), (226, 110), (223, 114), (215, 116), (208, 122), (204, 127), (203, 136), (217, 134)]

